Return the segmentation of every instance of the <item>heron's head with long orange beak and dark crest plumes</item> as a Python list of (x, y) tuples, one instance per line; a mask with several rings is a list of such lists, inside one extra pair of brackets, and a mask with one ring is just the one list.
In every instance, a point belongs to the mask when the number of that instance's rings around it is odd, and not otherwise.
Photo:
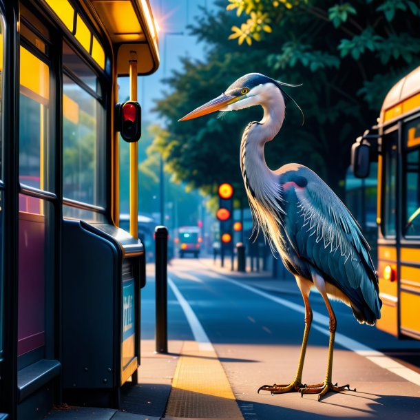
[[(245, 74), (232, 83), (220, 96), (194, 109), (186, 116), (180, 118), (180, 121), (191, 120), (216, 111), (236, 111), (252, 107), (253, 105), (269, 106), (273, 98), (278, 98), (279, 91), (282, 94), (280, 96), (282, 101), (277, 100), (271, 106), (285, 107), (286, 100), (290, 99), (293, 101), (293, 99), (284, 92), (282, 86), (297, 87), (300, 85), (288, 85), (288, 83), (276, 81), (260, 73)], [(275, 92), (277, 92), (277, 95), (274, 95)], [(295, 105), (300, 109), (297, 103)], [(302, 109), (300, 111), (302, 112)]]

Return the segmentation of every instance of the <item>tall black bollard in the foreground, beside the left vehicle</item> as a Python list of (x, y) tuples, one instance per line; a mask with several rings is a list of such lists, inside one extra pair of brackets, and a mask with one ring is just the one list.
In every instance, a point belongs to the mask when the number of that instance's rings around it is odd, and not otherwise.
[(168, 229), (157, 226), (156, 243), (156, 353), (168, 353)]

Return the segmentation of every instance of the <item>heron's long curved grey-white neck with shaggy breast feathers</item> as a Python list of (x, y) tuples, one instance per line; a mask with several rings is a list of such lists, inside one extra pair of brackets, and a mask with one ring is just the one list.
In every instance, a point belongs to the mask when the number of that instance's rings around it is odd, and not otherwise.
[[(241, 143), (240, 165), (253, 215), (254, 229), (261, 228), (271, 248), (274, 247), (281, 252), (284, 248), (280, 235), (281, 214), (284, 213), (280, 205), (281, 187), (279, 176), (266, 165), (264, 145), (273, 140), (280, 131), (285, 104), (280, 90), (272, 83), (260, 85), (258, 88), (260, 88), (258, 104), (252, 105), (262, 105), (264, 117), (260, 123), (251, 123), (245, 129)], [(253, 97), (255, 96), (251, 96)]]

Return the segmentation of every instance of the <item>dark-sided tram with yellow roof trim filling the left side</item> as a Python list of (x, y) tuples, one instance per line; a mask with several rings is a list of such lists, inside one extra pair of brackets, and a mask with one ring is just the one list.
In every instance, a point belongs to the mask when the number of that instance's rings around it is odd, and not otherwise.
[[(137, 77), (158, 65), (149, 0), (0, 0), (1, 419), (116, 407), (136, 377)], [(134, 140), (129, 232), (118, 132)]]

